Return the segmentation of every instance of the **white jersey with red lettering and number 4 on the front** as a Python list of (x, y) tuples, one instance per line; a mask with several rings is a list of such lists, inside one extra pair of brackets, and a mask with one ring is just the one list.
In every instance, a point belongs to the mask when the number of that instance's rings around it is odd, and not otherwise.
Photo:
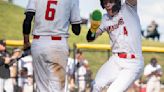
[(130, 6), (127, 3), (122, 5), (114, 17), (104, 14), (97, 34), (104, 31), (109, 33), (113, 53), (126, 52), (141, 56), (141, 25), (137, 6)]

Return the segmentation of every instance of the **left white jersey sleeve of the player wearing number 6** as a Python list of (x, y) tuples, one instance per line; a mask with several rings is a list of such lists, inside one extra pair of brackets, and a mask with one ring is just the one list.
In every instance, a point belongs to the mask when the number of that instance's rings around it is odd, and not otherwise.
[(35, 12), (36, 11), (36, 0), (29, 0), (25, 12)]

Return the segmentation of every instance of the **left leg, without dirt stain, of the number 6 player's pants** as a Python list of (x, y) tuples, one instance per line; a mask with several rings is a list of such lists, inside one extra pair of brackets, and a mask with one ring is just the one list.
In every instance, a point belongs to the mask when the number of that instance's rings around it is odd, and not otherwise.
[[(33, 58), (34, 77), (36, 82), (37, 92), (49, 92), (48, 91), (48, 64), (46, 59), (47, 44), (49, 40), (33, 39), (31, 45), (31, 53)], [(46, 42), (46, 44), (45, 44)]]

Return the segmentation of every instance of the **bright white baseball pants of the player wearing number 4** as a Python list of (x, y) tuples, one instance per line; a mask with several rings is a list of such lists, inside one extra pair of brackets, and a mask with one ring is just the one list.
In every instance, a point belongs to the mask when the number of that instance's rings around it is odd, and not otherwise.
[(112, 55), (111, 58), (99, 69), (92, 92), (126, 92), (128, 87), (139, 78), (144, 68), (142, 59), (120, 58)]

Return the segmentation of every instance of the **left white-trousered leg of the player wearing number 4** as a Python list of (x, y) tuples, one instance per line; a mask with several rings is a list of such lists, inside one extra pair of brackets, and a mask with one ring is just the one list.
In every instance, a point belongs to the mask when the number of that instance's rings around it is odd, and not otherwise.
[(101, 92), (107, 84), (110, 84), (117, 77), (120, 67), (117, 62), (118, 58), (112, 56), (97, 72), (93, 83), (92, 92)]

